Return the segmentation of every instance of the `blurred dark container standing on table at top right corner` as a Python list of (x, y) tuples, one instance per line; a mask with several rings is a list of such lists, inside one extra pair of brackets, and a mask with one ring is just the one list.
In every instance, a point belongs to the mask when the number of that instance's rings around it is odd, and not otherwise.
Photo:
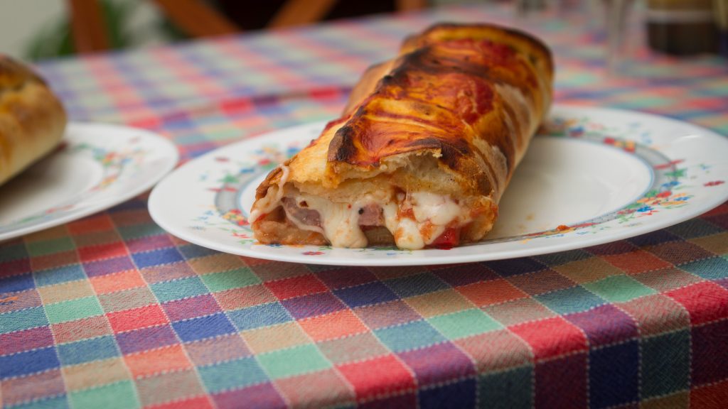
[(647, 39), (651, 49), (671, 55), (718, 51), (711, 0), (649, 0)]

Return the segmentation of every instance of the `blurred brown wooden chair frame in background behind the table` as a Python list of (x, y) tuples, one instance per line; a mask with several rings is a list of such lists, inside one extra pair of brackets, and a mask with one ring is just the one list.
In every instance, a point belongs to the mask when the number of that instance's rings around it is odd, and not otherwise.
[[(98, 0), (66, 0), (76, 52), (98, 52), (110, 47)], [(202, 0), (150, 0), (159, 11), (191, 37), (223, 36), (242, 31), (234, 22)], [(323, 20), (337, 0), (287, 0), (267, 28), (283, 28)], [(422, 9), (427, 0), (396, 0), (398, 11)]]

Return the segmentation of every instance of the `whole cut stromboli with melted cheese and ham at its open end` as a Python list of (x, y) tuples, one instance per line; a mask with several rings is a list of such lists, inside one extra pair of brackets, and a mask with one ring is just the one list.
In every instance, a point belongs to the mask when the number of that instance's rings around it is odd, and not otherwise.
[(549, 50), (526, 33), (439, 24), (408, 38), (258, 186), (256, 239), (405, 249), (483, 239), (552, 82)]

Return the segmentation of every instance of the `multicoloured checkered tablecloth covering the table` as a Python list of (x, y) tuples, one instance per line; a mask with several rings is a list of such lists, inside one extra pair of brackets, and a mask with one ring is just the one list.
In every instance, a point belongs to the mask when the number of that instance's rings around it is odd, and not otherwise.
[[(489, 20), (553, 47), (558, 103), (728, 133), (726, 60), (652, 55), (636, 23), (606, 76), (598, 14), (450, 7), (39, 68), (74, 119), (155, 130), (191, 159), (336, 116), (406, 33)], [(5, 408), (725, 408), (728, 204), (566, 253), (346, 268), (190, 245), (143, 195), (0, 243), (0, 384)]]

